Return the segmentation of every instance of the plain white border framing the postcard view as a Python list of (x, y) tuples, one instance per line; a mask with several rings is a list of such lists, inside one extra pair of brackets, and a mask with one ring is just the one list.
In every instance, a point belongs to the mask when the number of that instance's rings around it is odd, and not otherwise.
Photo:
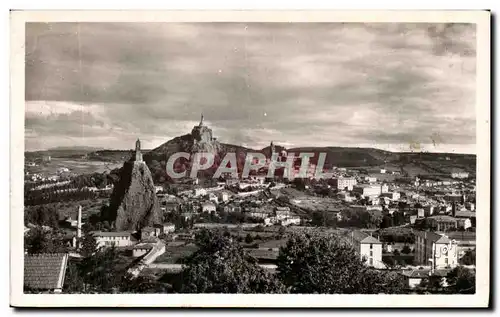
[[(25, 22), (449, 22), (477, 25), (477, 282), (474, 295), (23, 294)], [(488, 11), (12, 11), (10, 302), (39, 307), (486, 307), (490, 285)]]

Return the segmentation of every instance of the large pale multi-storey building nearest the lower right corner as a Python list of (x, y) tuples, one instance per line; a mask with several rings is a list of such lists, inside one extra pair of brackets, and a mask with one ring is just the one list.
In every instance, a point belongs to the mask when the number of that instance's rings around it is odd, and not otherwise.
[(415, 261), (417, 264), (430, 265), (433, 270), (453, 268), (458, 265), (456, 241), (444, 234), (429, 231), (416, 231)]

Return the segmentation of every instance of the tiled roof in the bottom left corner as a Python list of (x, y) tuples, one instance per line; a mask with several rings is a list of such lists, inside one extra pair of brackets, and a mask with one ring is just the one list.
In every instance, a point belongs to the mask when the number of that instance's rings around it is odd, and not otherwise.
[(67, 263), (65, 253), (25, 255), (24, 286), (44, 290), (62, 288)]

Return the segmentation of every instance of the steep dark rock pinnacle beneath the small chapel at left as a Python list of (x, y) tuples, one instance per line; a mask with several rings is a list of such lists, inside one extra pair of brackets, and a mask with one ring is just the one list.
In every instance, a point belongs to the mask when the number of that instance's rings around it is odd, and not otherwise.
[(161, 223), (153, 178), (144, 162), (125, 162), (104, 219), (117, 231), (140, 230)]

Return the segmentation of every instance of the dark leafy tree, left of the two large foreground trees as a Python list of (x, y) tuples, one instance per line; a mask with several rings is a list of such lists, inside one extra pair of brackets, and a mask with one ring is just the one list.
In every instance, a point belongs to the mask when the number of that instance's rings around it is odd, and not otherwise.
[(182, 293), (280, 293), (283, 286), (231, 237), (197, 234), (199, 249), (186, 261)]

